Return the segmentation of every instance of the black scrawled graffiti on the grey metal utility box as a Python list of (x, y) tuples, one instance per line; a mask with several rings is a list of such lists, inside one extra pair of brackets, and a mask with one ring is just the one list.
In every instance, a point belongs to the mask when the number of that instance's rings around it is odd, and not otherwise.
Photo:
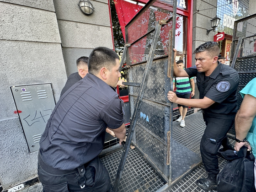
[(26, 121), (27, 125), (30, 127), (32, 124), (37, 123), (37, 122), (44, 122), (46, 123), (52, 114), (53, 109), (46, 109), (41, 111), (35, 111), (33, 114), (29, 114), (27, 117), (23, 118), (24, 121)]

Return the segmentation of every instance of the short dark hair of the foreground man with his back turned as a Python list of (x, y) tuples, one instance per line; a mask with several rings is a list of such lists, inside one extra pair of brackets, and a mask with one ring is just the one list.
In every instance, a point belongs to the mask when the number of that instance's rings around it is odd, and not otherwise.
[(102, 67), (111, 70), (116, 65), (118, 54), (110, 48), (97, 47), (92, 50), (88, 61), (88, 72), (96, 75)]

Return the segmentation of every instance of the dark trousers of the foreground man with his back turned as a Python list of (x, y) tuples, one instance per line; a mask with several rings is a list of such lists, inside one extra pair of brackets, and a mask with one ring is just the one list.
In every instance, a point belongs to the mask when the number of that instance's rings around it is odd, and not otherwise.
[(79, 175), (78, 170), (53, 174), (54, 169), (51, 171), (40, 158), (38, 155), (38, 178), (43, 185), (43, 192), (112, 192), (108, 171), (98, 157), (85, 166), (83, 176)]

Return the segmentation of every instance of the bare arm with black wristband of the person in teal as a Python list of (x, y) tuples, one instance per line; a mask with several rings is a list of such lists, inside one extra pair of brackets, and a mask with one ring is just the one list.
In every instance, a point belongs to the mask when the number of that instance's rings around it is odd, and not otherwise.
[[(251, 95), (245, 95), (239, 111), (235, 116), (235, 137), (240, 141), (245, 139), (251, 128), (252, 121), (256, 116), (256, 98)], [(235, 150), (238, 151), (243, 145), (251, 148), (247, 142), (235, 142)]]

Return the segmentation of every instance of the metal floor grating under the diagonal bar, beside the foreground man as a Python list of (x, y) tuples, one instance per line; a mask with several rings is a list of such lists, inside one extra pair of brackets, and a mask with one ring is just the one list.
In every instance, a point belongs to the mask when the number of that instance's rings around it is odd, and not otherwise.
[[(119, 150), (101, 158), (101, 162), (109, 172), (112, 184), (117, 174), (117, 167), (121, 155), (122, 150)], [(161, 180), (138, 151), (136, 149), (130, 149), (119, 183), (118, 192), (134, 192), (136, 190), (139, 192), (155, 192), (164, 184), (164, 181)]]

